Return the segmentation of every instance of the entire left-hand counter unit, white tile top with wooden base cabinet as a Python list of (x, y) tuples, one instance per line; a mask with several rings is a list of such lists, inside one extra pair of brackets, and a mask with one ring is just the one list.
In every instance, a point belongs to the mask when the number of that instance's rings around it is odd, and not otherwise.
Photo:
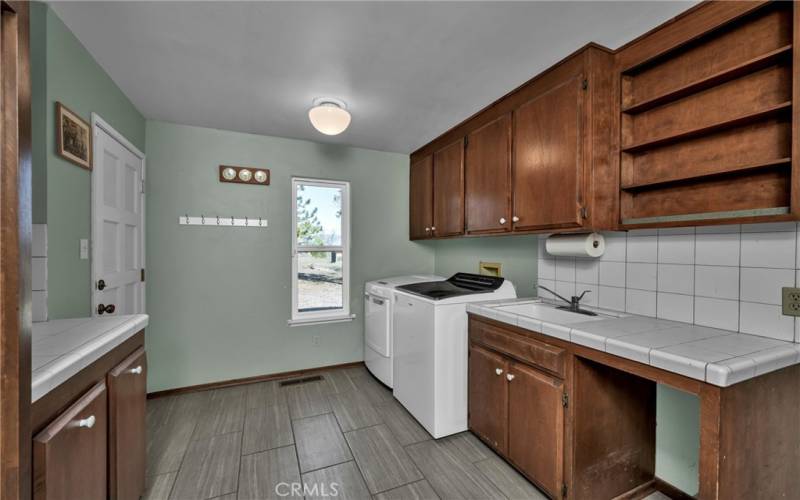
[(34, 326), (34, 499), (144, 493), (147, 324), (135, 314)]

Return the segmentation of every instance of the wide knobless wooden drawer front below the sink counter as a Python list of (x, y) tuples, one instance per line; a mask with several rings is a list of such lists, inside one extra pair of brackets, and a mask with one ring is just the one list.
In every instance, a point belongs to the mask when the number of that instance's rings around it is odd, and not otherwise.
[(564, 349), (477, 321), (470, 322), (469, 336), (473, 342), (564, 376)]

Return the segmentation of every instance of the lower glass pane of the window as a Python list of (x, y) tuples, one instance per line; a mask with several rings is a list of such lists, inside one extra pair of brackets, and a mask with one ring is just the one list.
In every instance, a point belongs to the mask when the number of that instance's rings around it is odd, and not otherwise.
[(297, 253), (297, 310), (342, 309), (342, 252)]

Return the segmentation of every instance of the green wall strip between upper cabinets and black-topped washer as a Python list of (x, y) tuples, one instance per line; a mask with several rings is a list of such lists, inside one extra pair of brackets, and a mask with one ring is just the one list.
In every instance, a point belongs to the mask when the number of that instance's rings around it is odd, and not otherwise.
[(503, 277), (517, 288), (518, 297), (532, 297), (537, 272), (537, 236), (483, 236), (439, 240), (430, 245), (436, 251), (435, 272), (449, 277), (464, 271), (478, 272), (481, 261), (499, 262)]

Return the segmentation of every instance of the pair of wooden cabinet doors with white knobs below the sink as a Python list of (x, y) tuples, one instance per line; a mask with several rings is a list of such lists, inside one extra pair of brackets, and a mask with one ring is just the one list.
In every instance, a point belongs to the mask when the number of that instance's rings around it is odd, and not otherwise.
[(468, 386), (470, 430), (551, 497), (561, 498), (564, 382), (473, 343)]

